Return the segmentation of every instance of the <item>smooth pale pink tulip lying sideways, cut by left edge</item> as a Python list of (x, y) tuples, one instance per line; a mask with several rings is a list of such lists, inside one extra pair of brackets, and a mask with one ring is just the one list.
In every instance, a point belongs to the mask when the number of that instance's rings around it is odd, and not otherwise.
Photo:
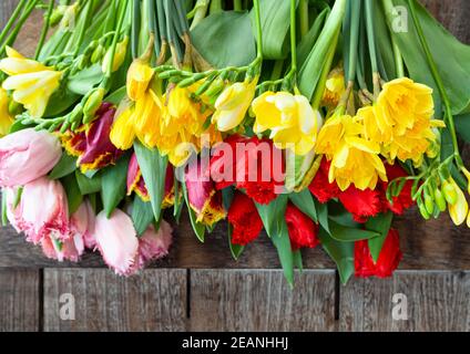
[(0, 139), (0, 186), (23, 186), (43, 177), (61, 156), (59, 139), (47, 132), (29, 128), (7, 135)]

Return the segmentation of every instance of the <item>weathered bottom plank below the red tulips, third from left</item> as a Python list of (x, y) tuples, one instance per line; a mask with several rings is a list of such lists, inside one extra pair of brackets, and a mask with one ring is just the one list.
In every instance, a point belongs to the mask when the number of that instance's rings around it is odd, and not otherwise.
[(305, 271), (295, 291), (282, 271), (191, 272), (192, 331), (334, 331), (335, 272)]

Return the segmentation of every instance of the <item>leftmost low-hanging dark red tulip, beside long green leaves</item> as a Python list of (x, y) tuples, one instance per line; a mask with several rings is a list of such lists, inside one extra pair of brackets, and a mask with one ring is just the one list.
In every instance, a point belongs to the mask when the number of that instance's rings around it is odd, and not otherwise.
[(233, 226), (232, 243), (246, 246), (254, 241), (263, 230), (263, 221), (251, 198), (236, 192), (228, 209), (228, 222)]

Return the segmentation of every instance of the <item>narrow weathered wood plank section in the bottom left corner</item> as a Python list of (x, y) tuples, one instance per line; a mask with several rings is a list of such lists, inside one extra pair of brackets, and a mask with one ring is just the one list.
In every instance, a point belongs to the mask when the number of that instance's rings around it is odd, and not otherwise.
[(39, 279), (39, 271), (0, 269), (0, 332), (40, 330)]

